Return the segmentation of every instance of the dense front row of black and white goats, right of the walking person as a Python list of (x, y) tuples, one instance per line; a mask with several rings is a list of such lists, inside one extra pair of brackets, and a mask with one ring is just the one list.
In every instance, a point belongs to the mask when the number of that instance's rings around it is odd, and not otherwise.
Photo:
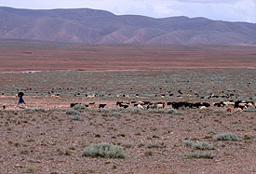
[[(73, 108), (76, 104), (81, 103), (71, 103), (70, 107)], [(95, 102), (84, 104), (86, 107), (89, 107), (89, 105), (94, 105)], [(188, 102), (188, 101), (179, 101), (179, 102), (151, 102), (151, 101), (130, 101), (130, 102), (124, 102), (124, 101), (116, 101), (116, 106), (119, 106), (121, 108), (128, 108), (128, 107), (138, 107), (141, 110), (145, 109), (164, 109), (166, 106), (171, 107), (173, 109), (179, 110), (180, 108), (200, 108), (205, 109), (211, 106), (209, 102)], [(256, 102), (253, 101), (242, 101), (242, 100), (236, 100), (236, 101), (220, 101), (220, 102), (213, 102), (213, 106), (215, 107), (234, 107), (239, 110), (247, 109), (248, 107), (256, 107)], [(104, 108), (107, 106), (107, 104), (99, 104), (99, 108)]]

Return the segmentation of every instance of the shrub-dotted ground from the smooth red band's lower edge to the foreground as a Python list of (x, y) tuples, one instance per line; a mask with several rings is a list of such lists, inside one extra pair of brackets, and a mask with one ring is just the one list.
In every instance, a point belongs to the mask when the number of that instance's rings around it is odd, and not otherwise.
[[(255, 70), (0, 74), (0, 104), (8, 101), (0, 111), (0, 172), (253, 173), (255, 108), (125, 109), (115, 102), (253, 101), (255, 76)], [(25, 108), (11, 107), (17, 91), (25, 93)], [(78, 104), (70, 108), (71, 102)]]

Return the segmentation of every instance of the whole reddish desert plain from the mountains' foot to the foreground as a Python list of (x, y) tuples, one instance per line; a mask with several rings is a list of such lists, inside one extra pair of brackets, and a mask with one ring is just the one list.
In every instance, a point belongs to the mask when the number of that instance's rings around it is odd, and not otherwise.
[[(255, 105), (213, 105), (255, 104), (255, 67), (252, 46), (1, 43), (0, 173), (256, 173)], [(20, 91), (26, 104), (17, 104)], [(145, 100), (210, 107), (131, 103)], [(84, 155), (102, 142), (125, 157)]]

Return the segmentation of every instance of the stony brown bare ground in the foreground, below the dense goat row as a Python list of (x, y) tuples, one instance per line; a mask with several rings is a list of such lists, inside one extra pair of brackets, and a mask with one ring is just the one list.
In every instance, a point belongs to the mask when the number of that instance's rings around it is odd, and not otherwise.
[[(39, 100), (41, 102), (39, 102)], [(89, 106), (81, 120), (65, 114), (77, 100), (26, 98), (26, 107), (0, 111), (0, 173), (255, 173), (255, 113), (216, 112), (217, 108), (161, 114)], [(87, 100), (88, 101), (88, 100)], [(100, 103), (101, 100), (96, 101)], [(11, 104), (12, 103), (12, 104)], [(40, 104), (39, 104), (40, 103)], [(41, 108), (41, 109), (35, 109)], [(104, 111), (104, 112), (103, 112)], [(166, 108), (166, 111), (168, 109)], [(116, 114), (117, 113), (117, 114)], [(214, 141), (234, 133), (243, 141)], [(212, 150), (195, 150), (183, 141), (208, 141)], [(127, 157), (85, 157), (91, 143), (121, 146)], [(213, 159), (185, 154), (215, 155)]]

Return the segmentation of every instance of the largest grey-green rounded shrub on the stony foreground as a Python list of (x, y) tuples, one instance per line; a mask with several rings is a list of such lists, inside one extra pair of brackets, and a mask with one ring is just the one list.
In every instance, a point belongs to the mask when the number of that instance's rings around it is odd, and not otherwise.
[(86, 147), (83, 156), (105, 157), (105, 158), (125, 158), (126, 154), (120, 146), (110, 143), (94, 143)]

